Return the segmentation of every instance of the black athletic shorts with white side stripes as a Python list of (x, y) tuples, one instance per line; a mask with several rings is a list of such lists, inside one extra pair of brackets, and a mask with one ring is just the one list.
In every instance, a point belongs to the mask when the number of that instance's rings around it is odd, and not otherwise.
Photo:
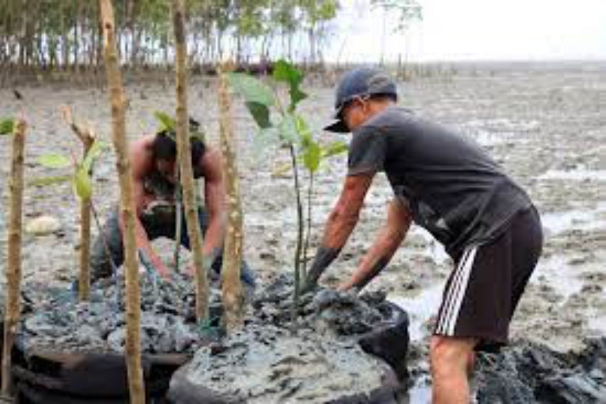
[(507, 343), (542, 245), (541, 219), (530, 207), (516, 213), (496, 239), (466, 248), (444, 288), (434, 335), (474, 337), (476, 349)]

